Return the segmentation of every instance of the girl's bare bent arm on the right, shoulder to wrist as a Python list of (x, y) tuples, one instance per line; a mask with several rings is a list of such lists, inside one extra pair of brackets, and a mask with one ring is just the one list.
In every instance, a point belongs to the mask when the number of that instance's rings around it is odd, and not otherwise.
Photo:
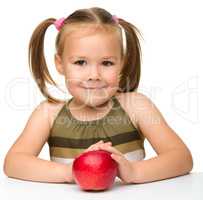
[(193, 160), (187, 146), (146, 96), (134, 93), (131, 98), (136, 124), (157, 153), (151, 159), (133, 161), (134, 182), (151, 182), (189, 173)]

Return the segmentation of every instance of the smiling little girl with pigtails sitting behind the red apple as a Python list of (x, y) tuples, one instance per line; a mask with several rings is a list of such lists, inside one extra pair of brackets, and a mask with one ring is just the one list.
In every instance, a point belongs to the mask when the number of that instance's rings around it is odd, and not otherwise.
[[(55, 66), (73, 96), (65, 102), (52, 97), (46, 87), (47, 83), (57, 86), (44, 56), (50, 25), (58, 30)], [(8, 177), (71, 183), (74, 158), (98, 149), (111, 152), (124, 183), (151, 182), (191, 171), (189, 149), (152, 101), (136, 92), (141, 71), (138, 33), (131, 23), (96, 7), (59, 20), (46, 19), (36, 27), (29, 64), (46, 100), (32, 112), (5, 157)], [(145, 138), (157, 153), (148, 160), (144, 160)], [(51, 160), (38, 158), (46, 142)]]

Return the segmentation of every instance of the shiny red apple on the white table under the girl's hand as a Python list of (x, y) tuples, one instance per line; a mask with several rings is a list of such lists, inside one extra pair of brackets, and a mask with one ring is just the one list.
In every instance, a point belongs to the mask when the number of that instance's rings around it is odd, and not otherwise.
[(75, 182), (83, 190), (106, 190), (113, 186), (118, 164), (111, 153), (95, 150), (75, 158), (72, 172)]

